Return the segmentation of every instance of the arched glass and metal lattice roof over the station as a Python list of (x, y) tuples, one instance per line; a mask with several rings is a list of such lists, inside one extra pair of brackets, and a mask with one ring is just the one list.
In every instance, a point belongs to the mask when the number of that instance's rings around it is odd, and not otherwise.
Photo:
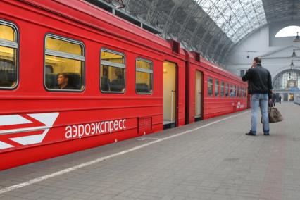
[(300, 20), (300, 0), (86, 0), (105, 2), (222, 65), (232, 47), (259, 28)]

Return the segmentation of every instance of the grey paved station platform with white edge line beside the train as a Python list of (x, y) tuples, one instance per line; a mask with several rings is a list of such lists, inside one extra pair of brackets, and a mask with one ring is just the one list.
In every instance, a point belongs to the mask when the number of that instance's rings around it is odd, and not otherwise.
[(300, 106), (234, 113), (0, 172), (0, 199), (300, 199)]

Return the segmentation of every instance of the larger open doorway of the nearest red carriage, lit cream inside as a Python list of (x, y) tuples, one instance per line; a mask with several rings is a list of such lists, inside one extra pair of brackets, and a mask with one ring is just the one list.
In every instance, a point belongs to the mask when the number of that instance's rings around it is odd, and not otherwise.
[(177, 119), (177, 65), (163, 62), (163, 128), (175, 127)]

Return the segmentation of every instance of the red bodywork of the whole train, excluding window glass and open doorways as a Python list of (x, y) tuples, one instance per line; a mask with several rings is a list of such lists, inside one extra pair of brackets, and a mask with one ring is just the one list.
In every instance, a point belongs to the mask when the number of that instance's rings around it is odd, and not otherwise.
[[(2, 23), (18, 30), (18, 48), (14, 47), (18, 50), (18, 85), (0, 88), (0, 170), (163, 130), (165, 63), (176, 66), (175, 90), (170, 94), (175, 109), (171, 106), (170, 121), (174, 118), (176, 126), (194, 122), (196, 70), (203, 73), (202, 119), (246, 108), (244, 98), (205, 95), (209, 77), (246, 87), (238, 77), (203, 58), (196, 62), (183, 49), (175, 52), (172, 42), (85, 1), (4, 0), (0, 6)], [(82, 90), (46, 88), (46, 54), (57, 54), (47, 51), (48, 35), (82, 46), (82, 55), (75, 56), (83, 63)], [(123, 92), (99, 89), (103, 49), (124, 57)], [(59, 55), (53, 58), (55, 62), (63, 62)], [(151, 61), (153, 66), (146, 70), (153, 76), (149, 94), (137, 93), (137, 59)]]

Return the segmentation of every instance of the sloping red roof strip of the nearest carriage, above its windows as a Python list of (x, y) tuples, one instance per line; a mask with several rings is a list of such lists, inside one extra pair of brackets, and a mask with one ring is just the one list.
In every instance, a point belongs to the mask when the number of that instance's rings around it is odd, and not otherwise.
[[(110, 35), (115, 35), (123, 39), (139, 42), (148, 48), (156, 51), (165, 51), (170, 53), (171, 44), (165, 39), (154, 35), (153, 33), (133, 25), (132, 23), (119, 18), (118, 16), (105, 11), (102, 8), (94, 6), (87, 1), (65, 1), (65, 0), (24, 0), (28, 4), (32, 4), (39, 8), (43, 8), (51, 13), (62, 15), (65, 18), (75, 20), (77, 23), (87, 25), (108, 32)], [(180, 50), (180, 54), (184, 54)]]

